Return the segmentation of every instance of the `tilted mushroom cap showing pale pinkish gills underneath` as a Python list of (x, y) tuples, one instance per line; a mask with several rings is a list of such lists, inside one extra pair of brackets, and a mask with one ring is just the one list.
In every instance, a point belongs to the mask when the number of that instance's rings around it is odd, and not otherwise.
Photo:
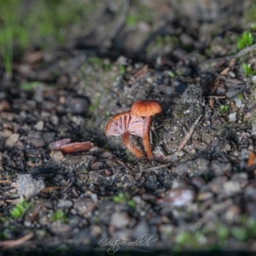
[(125, 131), (130, 134), (142, 137), (144, 120), (140, 116), (131, 115), (131, 112), (125, 112), (113, 116), (109, 120), (105, 134), (106, 136), (120, 136)]

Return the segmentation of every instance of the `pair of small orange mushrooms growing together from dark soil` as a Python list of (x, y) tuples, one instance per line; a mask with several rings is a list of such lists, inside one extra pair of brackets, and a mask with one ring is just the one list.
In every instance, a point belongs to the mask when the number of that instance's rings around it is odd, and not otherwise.
[(131, 112), (118, 114), (111, 118), (106, 126), (106, 136), (122, 136), (125, 147), (135, 156), (142, 157), (143, 153), (129, 140), (130, 135), (140, 136), (148, 159), (153, 161), (154, 156), (149, 142), (150, 124), (152, 116), (161, 111), (162, 107), (156, 101), (136, 101), (132, 105)]

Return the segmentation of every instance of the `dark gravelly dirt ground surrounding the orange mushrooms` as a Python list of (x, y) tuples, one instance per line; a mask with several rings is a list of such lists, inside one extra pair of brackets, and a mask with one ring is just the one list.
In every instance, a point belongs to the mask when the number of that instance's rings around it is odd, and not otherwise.
[[(144, 2), (0, 63), (0, 255), (255, 252), (256, 4)], [(154, 161), (105, 135), (137, 100)]]

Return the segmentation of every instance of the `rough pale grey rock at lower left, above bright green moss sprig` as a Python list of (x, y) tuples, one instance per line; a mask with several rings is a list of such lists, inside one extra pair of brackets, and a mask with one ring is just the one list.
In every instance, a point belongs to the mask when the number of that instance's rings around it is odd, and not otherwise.
[(18, 195), (31, 198), (45, 188), (43, 179), (35, 179), (32, 174), (20, 174), (16, 180)]

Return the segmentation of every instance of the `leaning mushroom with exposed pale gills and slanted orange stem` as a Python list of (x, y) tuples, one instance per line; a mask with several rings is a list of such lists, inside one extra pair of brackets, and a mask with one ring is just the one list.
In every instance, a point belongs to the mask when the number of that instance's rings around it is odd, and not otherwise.
[(129, 136), (132, 134), (142, 137), (143, 124), (143, 118), (133, 116), (131, 112), (125, 112), (111, 118), (106, 126), (105, 134), (106, 136), (122, 136), (125, 147), (135, 156), (141, 157), (143, 154), (131, 143)]

